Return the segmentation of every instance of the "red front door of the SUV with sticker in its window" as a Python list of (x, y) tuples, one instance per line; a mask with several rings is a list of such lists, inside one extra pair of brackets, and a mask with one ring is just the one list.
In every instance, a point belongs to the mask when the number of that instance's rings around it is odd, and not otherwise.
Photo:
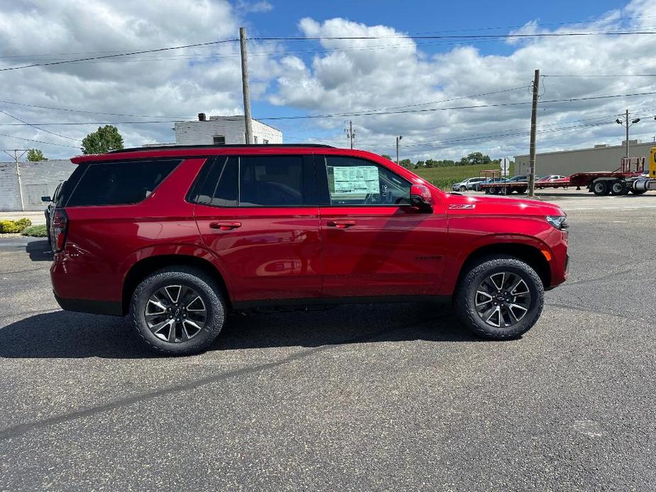
[(447, 220), (410, 205), (411, 182), (382, 164), (317, 156), (323, 296), (438, 293)]

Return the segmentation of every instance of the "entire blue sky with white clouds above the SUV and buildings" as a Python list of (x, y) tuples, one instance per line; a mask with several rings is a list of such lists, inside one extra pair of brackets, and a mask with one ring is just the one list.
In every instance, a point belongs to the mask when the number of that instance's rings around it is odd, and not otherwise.
[[(401, 158), (525, 154), (535, 69), (539, 151), (618, 145), (626, 108), (643, 118), (631, 138), (656, 135), (653, 0), (0, 0), (0, 148), (70, 157), (99, 123), (135, 146), (242, 113), (239, 26), (252, 114), (286, 142), (346, 146), (350, 119), (362, 149), (403, 135)], [(562, 33), (591, 35), (501, 37)], [(326, 39), (344, 37), (369, 39)], [(212, 44), (44, 65), (194, 43)]]

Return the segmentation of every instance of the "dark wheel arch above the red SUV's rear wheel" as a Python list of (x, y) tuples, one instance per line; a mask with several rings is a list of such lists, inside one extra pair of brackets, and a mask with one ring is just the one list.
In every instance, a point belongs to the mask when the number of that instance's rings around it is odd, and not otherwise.
[(209, 259), (192, 255), (164, 254), (145, 257), (130, 267), (123, 281), (123, 291), (121, 293), (121, 310), (123, 311), (123, 315), (128, 313), (130, 298), (140, 281), (153, 272), (157, 272), (159, 269), (176, 265), (200, 269), (209, 274), (213, 279), (216, 279), (221, 293), (223, 293), (223, 298), (226, 299), (228, 306), (231, 305), (226, 281), (216, 265), (210, 262)]

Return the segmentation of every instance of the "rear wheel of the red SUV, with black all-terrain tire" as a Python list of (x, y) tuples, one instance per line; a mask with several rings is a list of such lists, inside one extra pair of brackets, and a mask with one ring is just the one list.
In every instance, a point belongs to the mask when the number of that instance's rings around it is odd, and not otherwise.
[[(166, 306), (178, 312), (165, 312)], [(149, 315), (147, 309), (155, 314)], [(216, 281), (202, 270), (167, 267), (151, 274), (137, 286), (130, 300), (130, 318), (150, 350), (164, 355), (198, 354), (207, 350), (221, 332), (226, 318), (226, 302)], [(172, 334), (169, 323), (175, 320), (179, 323), (173, 325), (175, 331)], [(153, 328), (160, 325), (163, 328), (157, 335)]]

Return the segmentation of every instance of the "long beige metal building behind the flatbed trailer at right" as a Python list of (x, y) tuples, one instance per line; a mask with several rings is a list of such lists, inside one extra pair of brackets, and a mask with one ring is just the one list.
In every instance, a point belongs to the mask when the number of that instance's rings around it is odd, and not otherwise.
[[(640, 143), (640, 140), (629, 140), (630, 157), (649, 157), (655, 142)], [(562, 174), (569, 176), (575, 172), (614, 171), (620, 167), (622, 157), (626, 155), (626, 146), (595, 145), (588, 149), (559, 150), (543, 152), (535, 156), (535, 167), (538, 176), (545, 174)], [(515, 156), (515, 174), (528, 174), (529, 157)]]

